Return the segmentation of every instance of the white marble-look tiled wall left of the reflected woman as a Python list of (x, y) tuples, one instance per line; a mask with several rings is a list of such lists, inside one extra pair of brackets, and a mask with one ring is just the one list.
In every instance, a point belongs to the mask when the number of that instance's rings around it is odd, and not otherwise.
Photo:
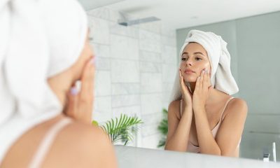
[(110, 8), (87, 12), (97, 56), (93, 119), (126, 113), (144, 121), (132, 146), (156, 148), (162, 109), (167, 109), (176, 72), (176, 32), (160, 21), (125, 27), (125, 13)]

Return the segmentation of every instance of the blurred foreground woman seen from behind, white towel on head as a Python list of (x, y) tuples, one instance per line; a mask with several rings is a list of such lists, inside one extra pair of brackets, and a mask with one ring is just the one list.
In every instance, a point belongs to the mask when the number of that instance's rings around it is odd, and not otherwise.
[(0, 167), (116, 167), (91, 125), (94, 53), (80, 4), (1, 1), (0, 25)]

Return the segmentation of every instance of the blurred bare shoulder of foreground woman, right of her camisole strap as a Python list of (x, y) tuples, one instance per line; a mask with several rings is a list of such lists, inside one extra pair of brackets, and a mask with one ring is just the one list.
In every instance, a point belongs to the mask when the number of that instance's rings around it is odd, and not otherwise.
[[(104, 162), (106, 157), (111, 163)], [(43, 165), (54, 163), (57, 167), (115, 167), (116, 158), (101, 128), (73, 121), (59, 132)]]

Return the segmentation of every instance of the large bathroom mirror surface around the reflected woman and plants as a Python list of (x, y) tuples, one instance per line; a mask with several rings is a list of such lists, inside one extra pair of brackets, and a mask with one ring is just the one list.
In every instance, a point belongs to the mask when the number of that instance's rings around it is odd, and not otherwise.
[(87, 15), (97, 55), (94, 120), (139, 116), (144, 123), (128, 146), (157, 148), (179, 50), (188, 31), (200, 29), (228, 42), (233, 96), (248, 104), (239, 158), (273, 160), (275, 142), (280, 161), (280, 1), (127, 0)]

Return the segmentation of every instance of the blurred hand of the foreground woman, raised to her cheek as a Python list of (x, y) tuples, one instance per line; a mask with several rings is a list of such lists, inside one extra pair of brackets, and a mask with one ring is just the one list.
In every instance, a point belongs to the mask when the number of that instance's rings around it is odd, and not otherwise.
[(81, 89), (78, 92), (75, 85), (68, 94), (68, 102), (64, 113), (75, 120), (91, 124), (94, 92), (94, 57), (83, 68), (80, 79)]

